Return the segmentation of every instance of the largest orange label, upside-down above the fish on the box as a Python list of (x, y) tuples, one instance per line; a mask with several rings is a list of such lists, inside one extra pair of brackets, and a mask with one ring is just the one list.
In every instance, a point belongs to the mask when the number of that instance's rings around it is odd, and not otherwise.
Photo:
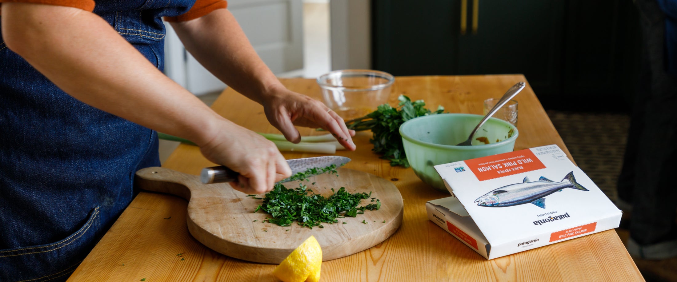
[(479, 181), (546, 168), (530, 149), (466, 160), (465, 163)]

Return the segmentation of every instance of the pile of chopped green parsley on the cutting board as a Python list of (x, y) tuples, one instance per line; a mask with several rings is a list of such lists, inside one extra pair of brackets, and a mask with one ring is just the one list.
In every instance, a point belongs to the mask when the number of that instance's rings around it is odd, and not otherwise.
[[(294, 174), (290, 179), (307, 181), (307, 175), (316, 174), (315, 172), (318, 170), (336, 173), (336, 165), (327, 168), (311, 168), (305, 172)], [(378, 210), (380, 208), (380, 201), (375, 198), (372, 198), (371, 202), (375, 202), (373, 204), (357, 206), (362, 199), (368, 199), (371, 193), (351, 194), (345, 191), (345, 187), (341, 187), (338, 191), (334, 191), (334, 188), (332, 188), (332, 191), (334, 192), (333, 195), (324, 197), (311, 193), (313, 190), (308, 189), (307, 185), (300, 184), (297, 188), (288, 189), (282, 183), (276, 183), (274, 189), (266, 193), (263, 198), (255, 197), (256, 195), (249, 196), (255, 199), (263, 199), (263, 203), (254, 212), (263, 210), (270, 214), (273, 218), (267, 218), (268, 222), (280, 226), (290, 226), (296, 220), (299, 225), (310, 229), (315, 226), (324, 228), (322, 222), (336, 223), (339, 222), (336, 218), (355, 217), (357, 214), (364, 214), (364, 210)], [(345, 224), (345, 222), (343, 223)]]

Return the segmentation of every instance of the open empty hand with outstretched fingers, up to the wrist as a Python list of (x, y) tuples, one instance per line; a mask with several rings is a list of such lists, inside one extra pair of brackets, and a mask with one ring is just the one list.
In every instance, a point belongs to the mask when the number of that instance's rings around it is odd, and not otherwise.
[(355, 131), (349, 130), (343, 118), (324, 103), (284, 87), (279, 87), (271, 93), (263, 102), (265, 116), (270, 124), (282, 131), (288, 141), (292, 143), (301, 141), (301, 134), (294, 125), (319, 127), (334, 135), (343, 147), (355, 151), (355, 143), (351, 138), (355, 136)]

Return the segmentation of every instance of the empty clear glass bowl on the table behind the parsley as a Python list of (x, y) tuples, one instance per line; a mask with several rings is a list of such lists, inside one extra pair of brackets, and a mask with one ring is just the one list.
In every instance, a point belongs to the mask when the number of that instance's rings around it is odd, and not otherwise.
[(324, 103), (346, 120), (388, 102), (395, 76), (378, 70), (334, 70), (318, 77)]

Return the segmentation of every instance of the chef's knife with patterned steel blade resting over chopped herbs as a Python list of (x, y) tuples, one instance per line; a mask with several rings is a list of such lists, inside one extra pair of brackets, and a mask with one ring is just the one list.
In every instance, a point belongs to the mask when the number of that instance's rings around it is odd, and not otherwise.
[[(287, 160), (287, 164), (292, 169), (292, 175), (299, 172), (305, 172), (309, 168), (326, 168), (332, 164), (336, 164), (336, 167), (343, 166), (350, 162), (350, 158), (341, 157), (341, 156), (322, 156), (322, 157), (313, 157), (313, 158), (300, 158)], [(318, 174), (321, 172), (318, 171)], [(238, 180), (238, 172), (227, 168), (225, 166), (212, 166), (211, 168), (202, 168), (200, 172), (200, 181), (204, 184), (210, 183), (222, 183), (222, 182), (233, 182)], [(316, 174), (310, 174), (313, 176)], [(280, 183), (289, 181), (289, 179), (282, 179)]]

